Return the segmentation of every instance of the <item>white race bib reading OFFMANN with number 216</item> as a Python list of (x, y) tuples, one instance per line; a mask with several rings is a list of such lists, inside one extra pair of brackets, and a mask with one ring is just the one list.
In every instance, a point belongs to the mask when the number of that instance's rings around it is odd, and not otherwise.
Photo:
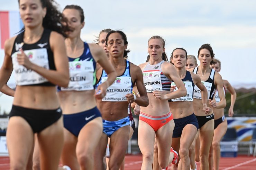
[(143, 71), (143, 81), (147, 93), (152, 93), (156, 90), (163, 91), (161, 71)]

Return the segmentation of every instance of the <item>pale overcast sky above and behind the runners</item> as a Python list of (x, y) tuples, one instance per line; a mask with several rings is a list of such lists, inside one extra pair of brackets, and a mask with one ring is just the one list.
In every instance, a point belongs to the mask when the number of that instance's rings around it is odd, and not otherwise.
[[(18, 10), (17, 0), (0, 0), (0, 10)], [(92, 42), (102, 29), (121, 29), (127, 35), (128, 54), (135, 64), (145, 62), (147, 41), (153, 35), (166, 40), (166, 52), (183, 47), (197, 56), (210, 43), (220, 59), (223, 79), (235, 87), (256, 87), (256, 1), (167, 0), (57, 0), (84, 9), (82, 39)], [(0, 59), (3, 60), (3, 51)], [(6, 102), (2, 102), (2, 100)], [(12, 98), (0, 97), (0, 106), (10, 109)]]

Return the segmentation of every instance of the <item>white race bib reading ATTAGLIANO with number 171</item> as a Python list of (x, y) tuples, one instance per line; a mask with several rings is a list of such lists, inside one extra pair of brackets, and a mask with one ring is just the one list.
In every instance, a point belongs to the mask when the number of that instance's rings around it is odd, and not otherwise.
[[(107, 79), (108, 77), (102, 77), (102, 83)], [(131, 93), (131, 77), (117, 77), (107, 89), (107, 94), (102, 101), (127, 101), (125, 96), (128, 93)]]

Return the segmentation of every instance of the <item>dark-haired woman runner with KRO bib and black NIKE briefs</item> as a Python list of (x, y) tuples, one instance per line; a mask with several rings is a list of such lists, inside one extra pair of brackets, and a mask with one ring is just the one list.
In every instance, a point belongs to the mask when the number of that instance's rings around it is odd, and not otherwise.
[[(226, 99), (223, 92), (223, 80), (219, 73), (210, 68), (210, 64), (213, 64), (214, 53), (210, 44), (203, 44), (198, 50), (198, 59), (200, 66), (195, 67), (193, 72), (198, 74), (202, 80), (202, 83), (208, 91), (207, 106), (211, 107), (208, 116), (205, 116), (201, 97), (201, 90), (197, 86), (194, 88), (193, 94), (193, 107), (196, 118), (198, 120), (200, 129), (200, 169), (209, 170), (209, 151), (213, 138), (214, 129), (214, 114), (212, 108), (224, 108), (226, 106)], [(191, 69), (192, 70), (192, 69)], [(213, 100), (215, 90), (219, 89), (220, 102), (216, 103)]]

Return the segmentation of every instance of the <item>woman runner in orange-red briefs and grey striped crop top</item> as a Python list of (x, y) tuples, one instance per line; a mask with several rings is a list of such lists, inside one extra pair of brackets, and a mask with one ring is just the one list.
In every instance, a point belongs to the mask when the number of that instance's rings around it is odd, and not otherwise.
[[(174, 121), (168, 105), (168, 99), (185, 96), (186, 89), (165, 54), (165, 41), (160, 36), (148, 40), (149, 62), (140, 64), (143, 70), (144, 85), (147, 89), (149, 105), (140, 108), (138, 144), (143, 154), (141, 169), (152, 169), (154, 142), (158, 147), (158, 162), (162, 169), (168, 166)], [(171, 80), (179, 88), (170, 93)], [(167, 94), (170, 93), (170, 94)], [(135, 106), (135, 112), (139, 106)]]

